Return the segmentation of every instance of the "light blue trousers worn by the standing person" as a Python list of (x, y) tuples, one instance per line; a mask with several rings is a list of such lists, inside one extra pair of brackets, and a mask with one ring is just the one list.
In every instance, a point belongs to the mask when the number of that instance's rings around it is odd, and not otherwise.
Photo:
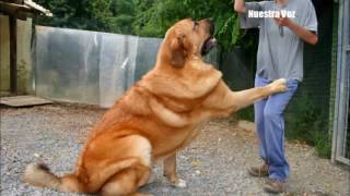
[[(268, 85), (268, 81), (256, 75), (255, 86)], [(254, 105), (255, 123), (259, 137), (260, 157), (269, 166), (269, 179), (285, 181), (290, 173), (284, 157), (284, 119), (283, 111), (298, 89), (298, 81), (287, 82), (287, 91), (275, 94)]]

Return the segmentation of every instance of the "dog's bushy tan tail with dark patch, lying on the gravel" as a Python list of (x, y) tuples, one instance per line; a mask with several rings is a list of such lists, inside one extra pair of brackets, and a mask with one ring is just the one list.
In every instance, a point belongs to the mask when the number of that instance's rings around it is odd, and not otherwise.
[(31, 163), (26, 167), (23, 181), (39, 187), (59, 192), (84, 192), (84, 186), (74, 174), (57, 176), (44, 163)]

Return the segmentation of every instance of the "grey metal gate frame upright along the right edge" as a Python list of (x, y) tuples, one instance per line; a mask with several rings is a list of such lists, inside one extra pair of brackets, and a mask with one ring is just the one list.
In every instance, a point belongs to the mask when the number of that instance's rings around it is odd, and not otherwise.
[(332, 156), (334, 161), (350, 166), (349, 136), (349, 85), (350, 85), (350, 3), (339, 1), (339, 36), (337, 58), (336, 103), (334, 117)]

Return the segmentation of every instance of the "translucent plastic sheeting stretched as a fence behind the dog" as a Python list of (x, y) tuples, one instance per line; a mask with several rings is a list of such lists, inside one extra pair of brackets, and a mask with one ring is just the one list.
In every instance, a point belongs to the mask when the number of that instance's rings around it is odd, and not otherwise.
[[(162, 39), (36, 26), (35, 91), (110, 107), (154, 65)], [(207, 60), (217, 64), (217, 50)]]

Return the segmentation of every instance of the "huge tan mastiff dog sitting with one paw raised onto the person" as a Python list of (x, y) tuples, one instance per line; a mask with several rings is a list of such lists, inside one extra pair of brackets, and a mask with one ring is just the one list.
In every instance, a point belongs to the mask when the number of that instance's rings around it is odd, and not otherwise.
[(176, 152), (196, 137), (200, 122), (285, 90), (285, 79), (230, 90), (221, 72), (202, 60), (215, 42), (212, 34), (208, 20), (187, 19), (172, 26), (154, 69), (95, 125), (74, 172), (57, 176), (45, 164), (33, 163), (24, 181), (60, 192), (142, 195), (138, 188), (152, 179), (152, 164), (162, 158), (170, 183), (186, 186), (175, 172)]

